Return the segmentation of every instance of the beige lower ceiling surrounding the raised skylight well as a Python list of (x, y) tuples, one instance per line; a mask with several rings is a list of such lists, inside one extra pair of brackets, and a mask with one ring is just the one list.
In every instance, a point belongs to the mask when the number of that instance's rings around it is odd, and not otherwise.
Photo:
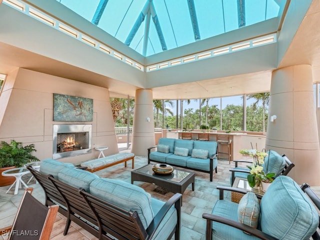
[[(293, 0), (291, 0), (291, 2), (292, 1)], [(3, 3), (1, 5), (3, 5)], [(287, 51), (278, 63), (278, 67), (294, 64), (311, 64), (314, 81), (320, 79), (320, 51), (318, 50), (320, 47), (319, 19), (320, 1), (313, 0)], [(1, 15), (0, 21), (3, 22)], [(281, 35), (279, 37), (281, 37)], [(238, 64), (241, 64), (241, 62)], [(138, 84), (129, 84), (129, 81), (123, 82), (116, 80), (103, 74), (88, 71), (82, 67), (73, 66), (0, 42), (0, 73), (9, 74), (17, 67), (107, 87), (112, 96), (134, 96), (135, 90), (140, 88)], [(261, 92), (269, 90), (273, 69), (274, 67), (269, 67), (269, 69), (252, 73), (189, 81), (172, 85), (167, 84), (151, 89), (153, 97), (156, 99), (206, 98)]]

